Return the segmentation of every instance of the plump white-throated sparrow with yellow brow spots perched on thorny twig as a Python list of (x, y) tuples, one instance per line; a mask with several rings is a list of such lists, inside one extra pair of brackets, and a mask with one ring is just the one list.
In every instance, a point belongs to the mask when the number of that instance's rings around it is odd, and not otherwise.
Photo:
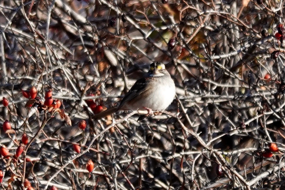
[(137, 80), (131, 87), (121, 103), (94, 115), (93, 119), (99, 119), (118, 110), (165, 110), (175, 97), (175, 84), (165, 65), (159, 62), (150, 64), (146, 75)]

